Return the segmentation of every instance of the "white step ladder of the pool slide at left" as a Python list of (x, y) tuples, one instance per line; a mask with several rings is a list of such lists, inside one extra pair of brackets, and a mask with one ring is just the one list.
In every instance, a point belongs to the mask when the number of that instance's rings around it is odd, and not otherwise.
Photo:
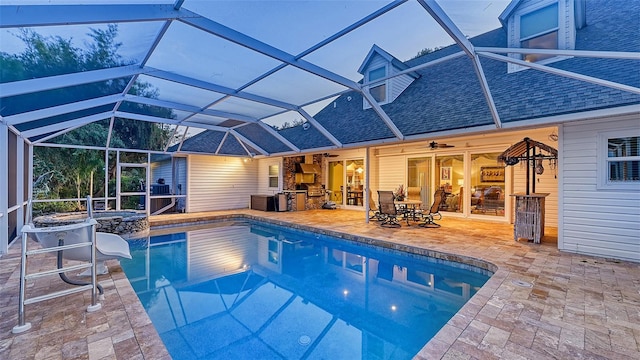
[[(96, 279), (96, 224), (95, 219), (87, 219), (82, 223), (54, 226), (48, 228), (36, 228), (32, 224), (28, 224), (22, 227), (22, 249), (20, 259), (20, 295), (18, 305), (18, 325), (13, 327), (12, 332), (14, 334), (25, 332), (31, 329), (31, 323), (25, 322), (24, 306), (29, 304), (38, 303), (40, 301), (50, 300), (61, 296), (71, 295), (78, 292), (91, 290), (91, 305), (87, 307), (87, 312), (95, 312), (102, 308), (102, 305), (97, 301), (98, 283)], [(28, 237), (32, 235), (34, 239), (42, 244), (42, 248), (29, 250), (27, 248)], [(74, 236), (76, 237), (74, 239)], [(41, 238), (47, 237), (49, 241), (41, 241)], [(82, 241), (87, 239), (88, 241)], [(64, 245), (65, 240), (70, 242), (68, 245)], [(73, 240), (76, 240), (74, 242)], [(63, 250), (69, 250), (74, 248), (80, 248), (90, 246), (91, 247), (91, 259), (88, 262), (84, 262), (78, 265), (71, 265), (64, 267), (62, 263), (58, 261), (58, 267), (54, 270), (46, 270), (41, 272), (27, 273), (27, 260), (31, 255), (44, 254), (50, 252), (61, 252)], [(61, 257), (61, 254), (58, 254)], [(77, 271), (82, 269), (91, 269), (91, 282), (78, 285), (74, 288), (68, 288), (65, 290), (55, 291), (49, 294), (40, 296), (34, 296), (31, 298), (26, 297), (26, 282), (28, 280), (37, 279), (50, 275), (64, 275), (63, 273), (68, 271)], [(64, 280), (64, 278), (63, 278)], [(65, 280), (66, 281), (66, 280)]]

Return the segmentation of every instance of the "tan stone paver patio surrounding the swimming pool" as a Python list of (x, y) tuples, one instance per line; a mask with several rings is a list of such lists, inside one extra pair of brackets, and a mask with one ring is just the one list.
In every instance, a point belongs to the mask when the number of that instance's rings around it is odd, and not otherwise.
[[(513, 240), (513, 226), (445, 217), (441, 228), (366, 224), (346, 210), (260, 212), (238, 210), (161, 215), (152, 228), (201, 224), (233, 214), (389, 242), (387, 246), (484, 264), (495, 274), (448, 322), (418, 359), (640, 359), (640, 264), (563, 253), (554, 229), (542, 244)], [(102, 310), (87, 313), (88, 292), (27, 305), (31, 330), (17, 324), (19, 245), (0, 258), (0, 359), (168, 359), (131, 285), (116, 261), (99, 277)], [(30, 258), (43, 268), (53, 259)], [(530, 284), (532, 286), (523, 286)], [(64, 284), (30, 282), (40, 294)]]

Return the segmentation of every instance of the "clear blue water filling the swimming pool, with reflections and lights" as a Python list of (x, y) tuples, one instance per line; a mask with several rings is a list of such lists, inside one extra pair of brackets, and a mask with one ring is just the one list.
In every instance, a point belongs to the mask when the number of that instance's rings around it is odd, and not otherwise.
[(259, 223), (130, 244), (122, 268), (174, 359), (411, 359), (489, 278)]

